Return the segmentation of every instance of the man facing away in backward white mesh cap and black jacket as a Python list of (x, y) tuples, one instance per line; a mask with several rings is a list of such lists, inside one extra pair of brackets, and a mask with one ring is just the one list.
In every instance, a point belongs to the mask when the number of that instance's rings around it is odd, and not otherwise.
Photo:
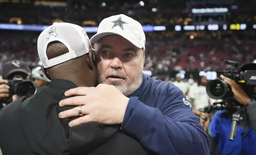
[[(31, 98), (21, 97), (1, 110), (0, 147), (4, 155), (152, 154), (121, 133), (118, 125), (89, 122), (69, 127), (75, 117), (58, 117), (59, 112), (76, 107), (59, 106), (60, 100), (67, 98), (65, 91), (93, 87), (97, 82), (91, 43), (83, 28), (54, 23), (40, 34), (37, 47), (51, 82)], [(76, 108), (79, 112), (80, 107)]]

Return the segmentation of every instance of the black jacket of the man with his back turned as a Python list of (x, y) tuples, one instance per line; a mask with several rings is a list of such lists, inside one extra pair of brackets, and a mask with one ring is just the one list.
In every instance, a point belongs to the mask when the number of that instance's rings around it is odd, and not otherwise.
[(149, 155), (140, 142), (120, 131), (118, 125), (89, 122), (76, 127), (75, 118), (59, 119), (64, 92), (77, 87), (53, 79), (31, 98), (19, 98), (0, 111), (0, 148), (3, 155)]

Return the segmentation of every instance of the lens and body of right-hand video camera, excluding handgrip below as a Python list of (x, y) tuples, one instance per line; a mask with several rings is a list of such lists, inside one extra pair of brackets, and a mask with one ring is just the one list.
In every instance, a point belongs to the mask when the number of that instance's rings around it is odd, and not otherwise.
[[(225, 60), (225, 64), (231, 65), (231, 68), (227, 71), (220, 71), (223, 76), (235, 80), (241, 87), (256, 85), (256, 66), (254, 64), (241, 66), (239, 62), (231, 60)], [(246, 89), (246, 87), (244, 88)], [(221, 79), (209, 81), (206, 85), (206, 92), (210, 98), (215, 100), (233, 97), (231, 88)]]

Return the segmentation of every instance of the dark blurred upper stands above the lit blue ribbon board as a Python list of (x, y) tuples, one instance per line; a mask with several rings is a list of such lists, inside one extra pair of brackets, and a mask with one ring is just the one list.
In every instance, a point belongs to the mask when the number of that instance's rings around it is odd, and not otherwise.
[[(216, 5), (198, 3), (197, 0), (130, 0), (128, 1), (79, 1), (73, 0), (70, 4), (66, 0), (54, 2), (23, 0), (20, 3), (0, 3), (0, 23), (51, 25), (55, 21), (65, 20), (65, 8), (70, 7), (68, 22), (80, 26), (99, 25), (105, 17), (116, 14), (125, 14), (139, 21), (142, 25), (177, 25), (184, 23), (186, 18), (193, 18), (192, 8), (207, 8), (218, 6), (221, 0), (215, 0)], [(253, 22), (254, 1), (233, 1), (230, 5), (222, 5), (229, 9), (227, 21), (231, 23)], [(239, 7), (237, 7), (239, 6)], [(12, 11), (10, 11), (12, 10)], [(33, 12), (33, 13), (31, 13)], [(242, 14), (242, 15), (241, 15)], [(19, 21), (19, 22), (17, 22)], [(191, 20), (188, 21), (188, 25)]]

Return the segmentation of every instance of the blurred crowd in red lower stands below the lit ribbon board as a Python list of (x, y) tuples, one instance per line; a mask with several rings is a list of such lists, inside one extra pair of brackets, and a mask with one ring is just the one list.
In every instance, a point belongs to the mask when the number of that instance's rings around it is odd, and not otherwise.
[[(146, 33), (144, 70), (156, 74), (167, 74), (171, 70), (223, 70), (228, 67), (224, 59), (244, 64), (256, 59), (254, 38), (242, 35), (237, 38), (224, 32), (213, 37), (214, 33)], [(34, 66), (39, 61), (36, 45), (37, 35), (0, 37), (0, 63), (18, 59)]]

